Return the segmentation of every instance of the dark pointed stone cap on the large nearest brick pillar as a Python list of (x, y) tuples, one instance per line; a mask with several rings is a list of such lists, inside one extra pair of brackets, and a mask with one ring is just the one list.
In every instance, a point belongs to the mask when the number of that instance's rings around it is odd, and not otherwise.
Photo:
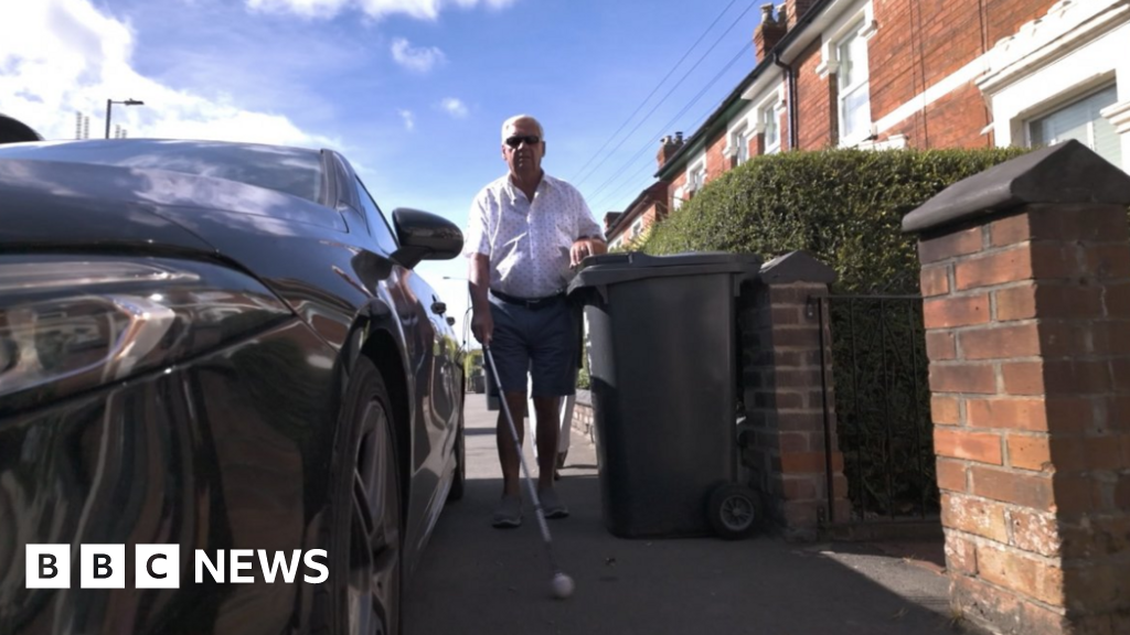
[(1130, 205), (1130, 174), (1071, 139), (954, 183), (903, 217), (903, 232), (932, 232), (1038, 203)]

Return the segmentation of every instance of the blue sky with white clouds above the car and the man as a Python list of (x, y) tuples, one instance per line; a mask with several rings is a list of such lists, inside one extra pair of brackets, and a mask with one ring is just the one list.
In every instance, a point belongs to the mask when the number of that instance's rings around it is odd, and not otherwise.
[[(766, 1), (0, 0), (0, 112), (53, 139), (82, 112), (97, 137), (106, 98), (144, 99), (115, 106), (130, 137), (334, 148), (385, 211), (460, 226), (505, 173), (502, 121), (530, 113), (544, 167), (601, 220), (652, 182), (658, 139), (753, 69)], [(461, 319), (464, 284), (443, 277), (466, 262), (420, 271)]]

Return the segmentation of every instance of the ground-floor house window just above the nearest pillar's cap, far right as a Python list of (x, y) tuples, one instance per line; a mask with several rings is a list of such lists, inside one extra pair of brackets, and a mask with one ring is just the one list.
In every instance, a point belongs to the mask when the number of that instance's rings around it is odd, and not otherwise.
[(1051, 114), (1028, 122), (1028, 142), (1032, 146), (1051, 146), (1076, 139), (1098, 156), (1122, 167), (1122, 146), (1119, 133), (1110, 120), (1098, 111), (1118, 102), (1114, 86), (1084, 97)]

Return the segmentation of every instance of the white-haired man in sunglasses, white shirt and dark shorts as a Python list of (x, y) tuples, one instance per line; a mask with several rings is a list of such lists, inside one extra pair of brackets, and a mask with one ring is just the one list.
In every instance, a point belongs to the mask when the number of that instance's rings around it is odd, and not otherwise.
[[(524, 437), (530, 373), (538, 445), (538, 497), (547, 517), (568, 515), (554, 488), (559, 403), (576, 389), (579, 331), (565, 297), (570, 272), (589, 255), (608, 251), (600, 225), (581, 193), (541, 169), (541, 124), (518, 115), (502, 125), (508, 174), (471, 203), (466, 254), (470, 259), (471, 330), (490, 347), (501, 391)], [(499, 410), (496, 440), (503, 472), (497, 528), (522, 523), (520, 462)]]

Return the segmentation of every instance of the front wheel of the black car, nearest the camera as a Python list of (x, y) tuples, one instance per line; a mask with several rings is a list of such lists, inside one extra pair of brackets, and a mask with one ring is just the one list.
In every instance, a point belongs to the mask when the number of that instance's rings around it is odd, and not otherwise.
[(388, 389), (367, 358), (342, 401), (330, 502), (333, 633), (399, 635), (403, 513)]

